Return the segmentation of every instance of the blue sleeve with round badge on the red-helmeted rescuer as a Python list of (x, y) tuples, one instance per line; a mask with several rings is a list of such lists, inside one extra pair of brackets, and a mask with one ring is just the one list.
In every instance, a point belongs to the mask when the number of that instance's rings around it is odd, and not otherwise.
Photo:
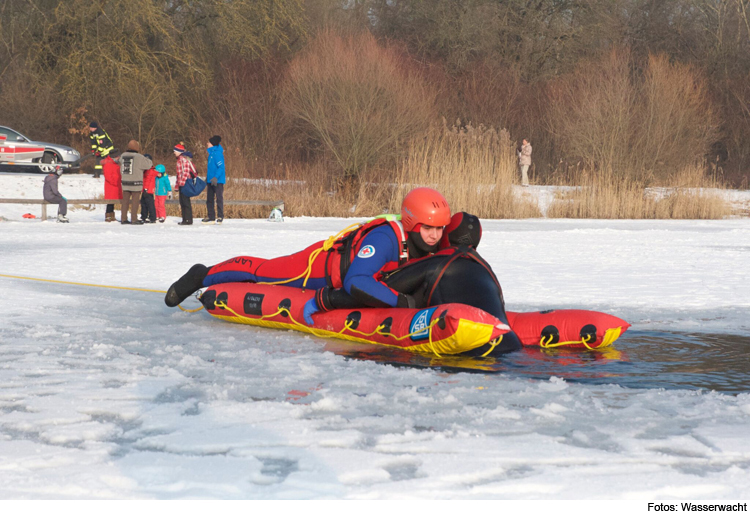
[(375, 280), (375, 274), (389, 262), (398, 262), (398, 256), (399, 243), (393, 229), (390, 226), (373, 229), (349, 266), (343, 280), (344, 290), (367, 306), (395, 307), (398, 294)]

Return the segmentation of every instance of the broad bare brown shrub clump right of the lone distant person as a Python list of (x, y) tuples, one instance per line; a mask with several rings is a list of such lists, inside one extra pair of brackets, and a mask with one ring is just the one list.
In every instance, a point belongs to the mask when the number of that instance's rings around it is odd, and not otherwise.
[(643, 75), (614, 50), (550, 83), (549, 125), (562, 152), (601, 178), (665, 179), (699, 163), (716, 137), (703, 78), (651, 56)]

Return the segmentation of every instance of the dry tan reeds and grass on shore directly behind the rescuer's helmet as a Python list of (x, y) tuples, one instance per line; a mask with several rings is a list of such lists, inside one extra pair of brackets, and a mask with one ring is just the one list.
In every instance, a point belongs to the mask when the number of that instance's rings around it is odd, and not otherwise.
[[(410, 189), (430, 186), (445, 195), (454, 211), (470, 211), (484, 218), (541, 216), (533, 200), (516, 192), (517, 171), (515, 144), (507, 131), (444, 124), (411, 142), (393, 178), (387, 177), (388, 172), (370, 171), (367, 177), (337, 185), (338, 179), (332, 176), (335, 172), (324, 161), (283, 164), (266, 172), (268, 178), (231, 180), (225, 197), (283, 198), (286, 214), (293, 216), (366, 217), (398, 213)], [(196, 206), (196, 215), (203, 212), (203, 206)], [(267, 212), (267, 208), (227, 207), (226, 216), (257, 217)]]

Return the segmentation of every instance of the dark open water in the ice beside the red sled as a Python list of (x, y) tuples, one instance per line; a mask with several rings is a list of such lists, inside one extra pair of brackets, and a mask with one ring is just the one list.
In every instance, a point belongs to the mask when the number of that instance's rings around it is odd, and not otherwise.
[[(341, 348), (341, 349), (339, 349)], [(750, 336), (629, 330), (597, 349), (524, 348), (497, 358), (427, 357), (382, 348), (331, 350), (347, 357), (448, 372), (503, 373), (646, 389), (750, 392)]]

